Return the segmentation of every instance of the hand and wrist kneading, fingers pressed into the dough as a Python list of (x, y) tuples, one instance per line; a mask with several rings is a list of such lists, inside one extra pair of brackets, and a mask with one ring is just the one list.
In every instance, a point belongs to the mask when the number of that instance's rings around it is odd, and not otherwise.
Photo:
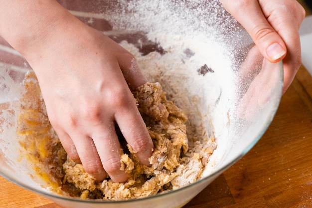
[(30, 1), (3, 1), (15, 6), (25, 3), (21, 9), (29, 25), (26, 36), (6, 39), (35, 71), (49, 120), (63, 147), (96, 179), (110, 176), (114, 182), (127, 181), (127, 174), (120, 170), (116, 126), (141, 163), (149, 165), (153, 142), (129, 88), (144, 84), (146, 78), (132, 54), (56, 1)]

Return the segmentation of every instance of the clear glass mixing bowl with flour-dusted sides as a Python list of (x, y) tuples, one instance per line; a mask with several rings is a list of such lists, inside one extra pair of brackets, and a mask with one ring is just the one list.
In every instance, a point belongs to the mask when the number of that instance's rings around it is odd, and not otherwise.
[[(243, 157), (270, 125), (283, 88), (282, 62), (263, 59), (244, 28), (218, 0), (68, 0), (73, 15), (115, 41), (131, 43), (165, 69), (138, 60), (150, 81), (164, 91), (193, 125), (216, 138), (203, 177), (183, 188), (136, 200), (103, 201), (67, 198), (51, 193), (20, 160), (16, 139), (21, 82), (31, 67), (0, 40), (0, 174), (17, 185), (68, 208), (180, 208)], [(163, 63), (163, 57), (170, 61)], [(166, 59), (168, 60), (168, 59)], [(178, 67), (177, 67), (178, 66)], [(159, 76), (161, 75), (161, 76)], [(178, 87), (177, 87), (178, 86)]]

